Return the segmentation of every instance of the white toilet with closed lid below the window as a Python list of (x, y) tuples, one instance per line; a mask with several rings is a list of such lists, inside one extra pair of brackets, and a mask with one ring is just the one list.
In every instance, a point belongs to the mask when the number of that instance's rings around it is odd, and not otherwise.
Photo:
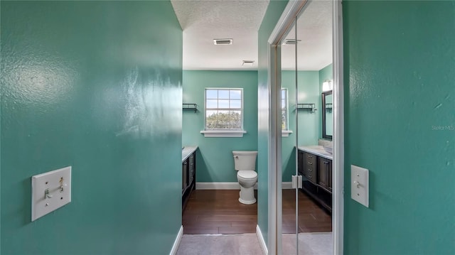
[(234, 168), (237, 170), (237, 180), (240, 184), (239, 202), (251, 205), (256, 202), (255, 184), (257, 182), (256, 157), (257, 151), (232, 151)]

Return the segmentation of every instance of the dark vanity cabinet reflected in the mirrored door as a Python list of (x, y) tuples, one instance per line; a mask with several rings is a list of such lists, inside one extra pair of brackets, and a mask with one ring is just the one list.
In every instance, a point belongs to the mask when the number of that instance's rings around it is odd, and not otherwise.
[(332, 161), (315, 154), (299, 151), (298, 169), (302, 190), (332, 212)]

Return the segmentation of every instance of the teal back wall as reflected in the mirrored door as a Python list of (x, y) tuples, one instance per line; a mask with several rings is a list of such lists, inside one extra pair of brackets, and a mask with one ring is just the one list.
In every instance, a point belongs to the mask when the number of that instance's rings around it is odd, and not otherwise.
[[(282, 139), (282, 178), (283, 182), (290, 182), (291, 175), (296, 173), (296, 75), (295, 71), (282, 71), (282, 87), (288, 89), (289, 100), (289, 129), (294, 133)], [(300, 110), (299, 114), (299, 146), (318, 144), (319, 130), (321, 129), (321, 94), (319, 93), (319, 72), (297, 72), (299, 88), (299, 103), (314, 103), (314, 113)]]

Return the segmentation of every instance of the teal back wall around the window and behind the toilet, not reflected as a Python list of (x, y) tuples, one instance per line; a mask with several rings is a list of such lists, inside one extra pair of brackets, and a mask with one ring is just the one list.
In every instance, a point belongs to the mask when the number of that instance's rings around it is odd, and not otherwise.
[[(243, 89), (243, 137), (205, 137), (204, 89)], [(198, 112), (183, 112), (182, 144), (199, 146), (198, 182), (237, 182), (232, 151), (257, 151), (257, 71), (183, 71), (183, 102), (198, 104)]]

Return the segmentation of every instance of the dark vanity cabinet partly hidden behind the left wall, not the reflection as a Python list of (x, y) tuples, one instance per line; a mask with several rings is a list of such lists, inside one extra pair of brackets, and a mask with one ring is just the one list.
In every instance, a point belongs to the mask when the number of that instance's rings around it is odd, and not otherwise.
[(196, 151), (182, 161), (182, 210), (191, 195), (196, 189)]

